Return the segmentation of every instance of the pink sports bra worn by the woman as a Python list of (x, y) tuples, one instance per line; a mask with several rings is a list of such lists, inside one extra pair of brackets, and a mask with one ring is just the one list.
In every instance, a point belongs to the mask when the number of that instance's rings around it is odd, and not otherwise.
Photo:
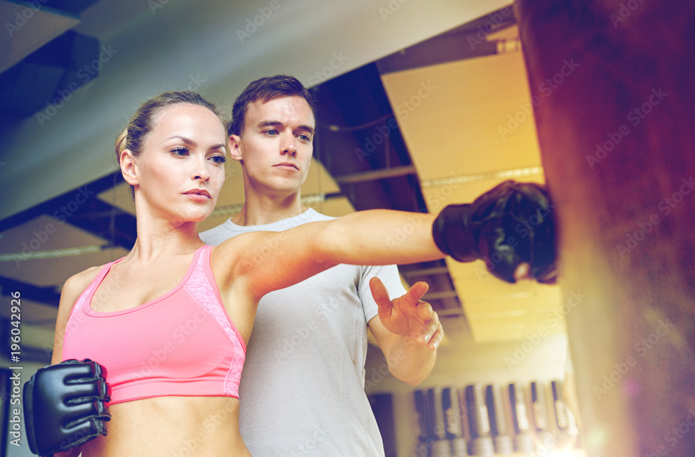
[(239, 397), (246, 344), (222, 305), (210, 250), (197, 249), (181, 283), (141, 306), (113, 313), (91, 308), (95, 290), (122, 259), (104, 265), (75, 302), (63, 360), (104, 365), (110, 405), (170, 395)]

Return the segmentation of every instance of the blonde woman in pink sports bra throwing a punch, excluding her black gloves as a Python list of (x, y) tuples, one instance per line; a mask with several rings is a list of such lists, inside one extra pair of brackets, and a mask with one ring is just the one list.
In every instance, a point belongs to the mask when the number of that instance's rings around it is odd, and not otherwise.
[[(311, 141), (306, 135), (297, 140)], [(65, 283), (52, 360), (88, 358), (106, 368), (111, 421), (108, 435), (56, 455), (250, 455), (237, 392), (261, 297), (339, 263), (444, 256), (432, 237), (435, 215), (390, 210), (206, 246), (197, 223), (215, 207), (226, 150), (224, 123), (195, 92), (143, 103), (120, 136), (116, 151), (133, 187), (138, 238), (124, 258)], [(460, 246), (455, 241), (445, 240)], [(441, 335), (422, 338), (437, 344)]]

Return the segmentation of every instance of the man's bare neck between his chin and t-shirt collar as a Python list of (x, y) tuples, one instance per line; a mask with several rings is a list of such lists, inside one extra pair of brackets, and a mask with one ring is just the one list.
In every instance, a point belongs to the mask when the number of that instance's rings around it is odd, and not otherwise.
[(299, 191), (285, 196), (259, 195), (248, 192), (243, 208), (231, 218), (239, 226), (272, 224), (288, 217), (295, 217), (307, 210), (302, 205)]

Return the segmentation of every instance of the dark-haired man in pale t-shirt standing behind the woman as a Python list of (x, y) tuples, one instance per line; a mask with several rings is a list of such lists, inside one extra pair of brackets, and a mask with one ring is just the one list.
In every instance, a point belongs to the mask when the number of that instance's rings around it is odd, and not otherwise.
[[(242, 165), (245, 204), (202, 240), (219, 244), (239, 233), (329, 219), (300, 201), (316, 128), (302, 83), (291, 76), (254, 81), (232, 116), (229, 149)], [(395, 265), (338, 265), (261, 299), (239, 394), (252, 455), (384, 455), (364, 392), (367, 330), (391, 373), (411, 385), (430, 374), (443, 338), (436, 313), (419, 300), (425, 283), (393, 301), (386, 290), (405, 292)]]

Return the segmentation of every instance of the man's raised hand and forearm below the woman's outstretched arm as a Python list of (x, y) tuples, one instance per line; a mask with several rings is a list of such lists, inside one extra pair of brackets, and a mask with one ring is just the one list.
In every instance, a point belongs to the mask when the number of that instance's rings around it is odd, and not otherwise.
[(382, 281), (370, 280), (379, 314), (368, 326), (386, 356), (389, 371), (404, 383), (416, 385), (432, 372), (444, 331), (432, 306), (420, 300), (427, 283), (415, 283), (402, 297), (389, 299)]

